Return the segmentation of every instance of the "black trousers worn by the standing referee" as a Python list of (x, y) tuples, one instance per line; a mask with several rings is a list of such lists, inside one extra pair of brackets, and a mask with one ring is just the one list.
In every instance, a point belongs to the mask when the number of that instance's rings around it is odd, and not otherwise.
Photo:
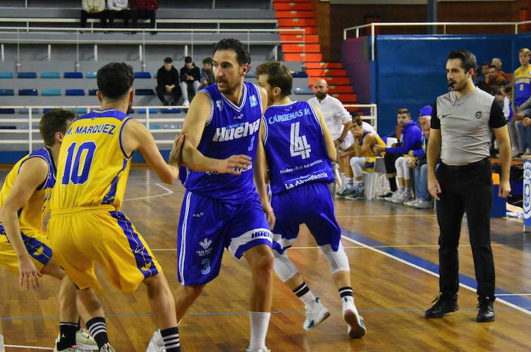
[(490, 245), (492, 176), (489, 158), (465, 166), (441, 163), (437, 180), (442, 193), (437, 201), (439, 235), (439, 286), (443, 296), (456, 297), (459, 289), (458, 245), (466, 212), (470, 245), (480, 298), (494, 299), (494, 258)]

